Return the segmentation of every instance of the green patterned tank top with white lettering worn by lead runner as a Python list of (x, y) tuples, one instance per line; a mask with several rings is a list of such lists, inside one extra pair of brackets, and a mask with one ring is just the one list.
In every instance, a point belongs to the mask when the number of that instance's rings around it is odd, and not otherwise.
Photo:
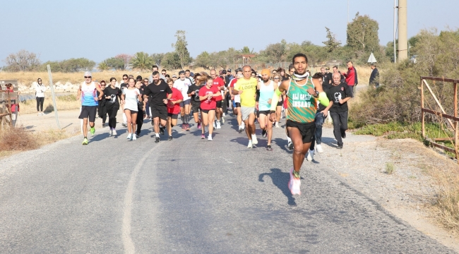
[(316, 118), (316, 98), (309, 95), (307, 90), (314, 89), (312, 78), (308, 78), (306, 84), (297, 85), (294, 80), (290, 80), (287, 91), (287, 120), (297, 123), (311, 123)]

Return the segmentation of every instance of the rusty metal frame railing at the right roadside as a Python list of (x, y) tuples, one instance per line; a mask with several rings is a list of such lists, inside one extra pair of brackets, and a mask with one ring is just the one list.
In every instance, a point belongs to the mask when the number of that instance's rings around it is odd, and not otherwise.
[[(443, 108), (441, 104), (441, 100), (435, 95), (434, 91), (432, 90), (431, 85), (427, 83), (427, 80), (432, 81), (434, 84), (436, 82), (441, 82), (443, 87), (453, 85), (453, 114), (448, 114), (446, 110)], [(421, 77), (420, 81), (420, 88), (421, 88), (421, 117), (422, 117), (422, 138), (429, 141), (431, 146), (438, 147), (442, 150), (451, 152), (455, 155), (455, 158), (458, 159), (459, 163), (459, 129), (458, 129), (458, 83), (459, 80), (451, 79), (451, 78), (438, 78), (438, 77)], [(434, 99), (434, 106), (432, 106), (429, 102), (427, 102), (425, 88), (427, 88), (427, 95), (431, 95), (432, 99)], [(449, 87), (448, 87), (449, 88)], [(451, 95), (450, 95), (451, 96)], [(425, 107), (424, 104), (429, 104), (428, 107)], [(448, 108), (447, 108), (448, 109)], [(451, 112), (451, 109), (449, 109)], [(446, 122), (446, 126), (448, 131), (454, 133), (453, 137), (448, 138), (439, 138), (439, 137), (427, 137), (426, 130), (425, 130), (425, 121), (426, 121), (426, 114), (431, 114), (437, 117), (440, 123)], [(442, 125), (443, 126), (443, 125)], [(454, 148), (447, 147), (446, 145), (442, 145), (439, 142), (449, 141), (453, 143)]]

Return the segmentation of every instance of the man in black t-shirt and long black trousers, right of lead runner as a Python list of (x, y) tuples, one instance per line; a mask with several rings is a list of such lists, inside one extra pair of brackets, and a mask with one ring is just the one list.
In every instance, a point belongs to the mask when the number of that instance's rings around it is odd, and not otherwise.
[(338, 141), (338, 149), (342, 149), (342, 138), (346, 138), (347, 101), (352, 97), (352, 89), (341, 81), (340, 73), (333, 73), (333, 83), (328, 87), (327, 96), (333, 101), (330, 116), (333, 119), (333, 134)]

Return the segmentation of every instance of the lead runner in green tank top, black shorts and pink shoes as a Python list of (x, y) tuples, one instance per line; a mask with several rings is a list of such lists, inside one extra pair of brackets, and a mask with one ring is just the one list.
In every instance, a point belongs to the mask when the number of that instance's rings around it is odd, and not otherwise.
[[(312, 136), (316, 131), (316, 98), (324, 106), (328, 106), (328, 97), (323, 92), (320, 80), (309, 77), (306, 73), (308, 58), (305, 54), (296, 54), (292, 59), (295, 69), (290, 80), (283, 81), (274, 92), (273, 102), (277, 102), (282, 92), (288, 97), (287, 135), (292, 139), (294, 146), (293, 167), (290, 169), (288, 187), (292, 195), (301, 194), (299, 169), (304, 162), (304, 156), (311, 146)], [(270, 107), (270, 121), (276, 121), (276, 103)]]

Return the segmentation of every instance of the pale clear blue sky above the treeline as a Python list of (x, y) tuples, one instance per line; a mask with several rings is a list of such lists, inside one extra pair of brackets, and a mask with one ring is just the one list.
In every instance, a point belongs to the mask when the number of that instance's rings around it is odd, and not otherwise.
[[(117, 54), (171, 52), (186, 31), (191, 56), (244, 46), (255, 52), (285, 39), (323, 45), (326, 28), (345, 44), (347, 0), (0, 0), (0, 66), (8, 54), (34, 52), (42, 62)], [(398, 2), (398, 1), (397, 1)], [(380, 44), (393, 40), (392, 0), (349, 0), (349, 20), (379, 23)], [(407, 0), (408, 37), (419, 30), (459, 28), (458, 0)], [(6, 11), (7, 10), (7, 11)]]

